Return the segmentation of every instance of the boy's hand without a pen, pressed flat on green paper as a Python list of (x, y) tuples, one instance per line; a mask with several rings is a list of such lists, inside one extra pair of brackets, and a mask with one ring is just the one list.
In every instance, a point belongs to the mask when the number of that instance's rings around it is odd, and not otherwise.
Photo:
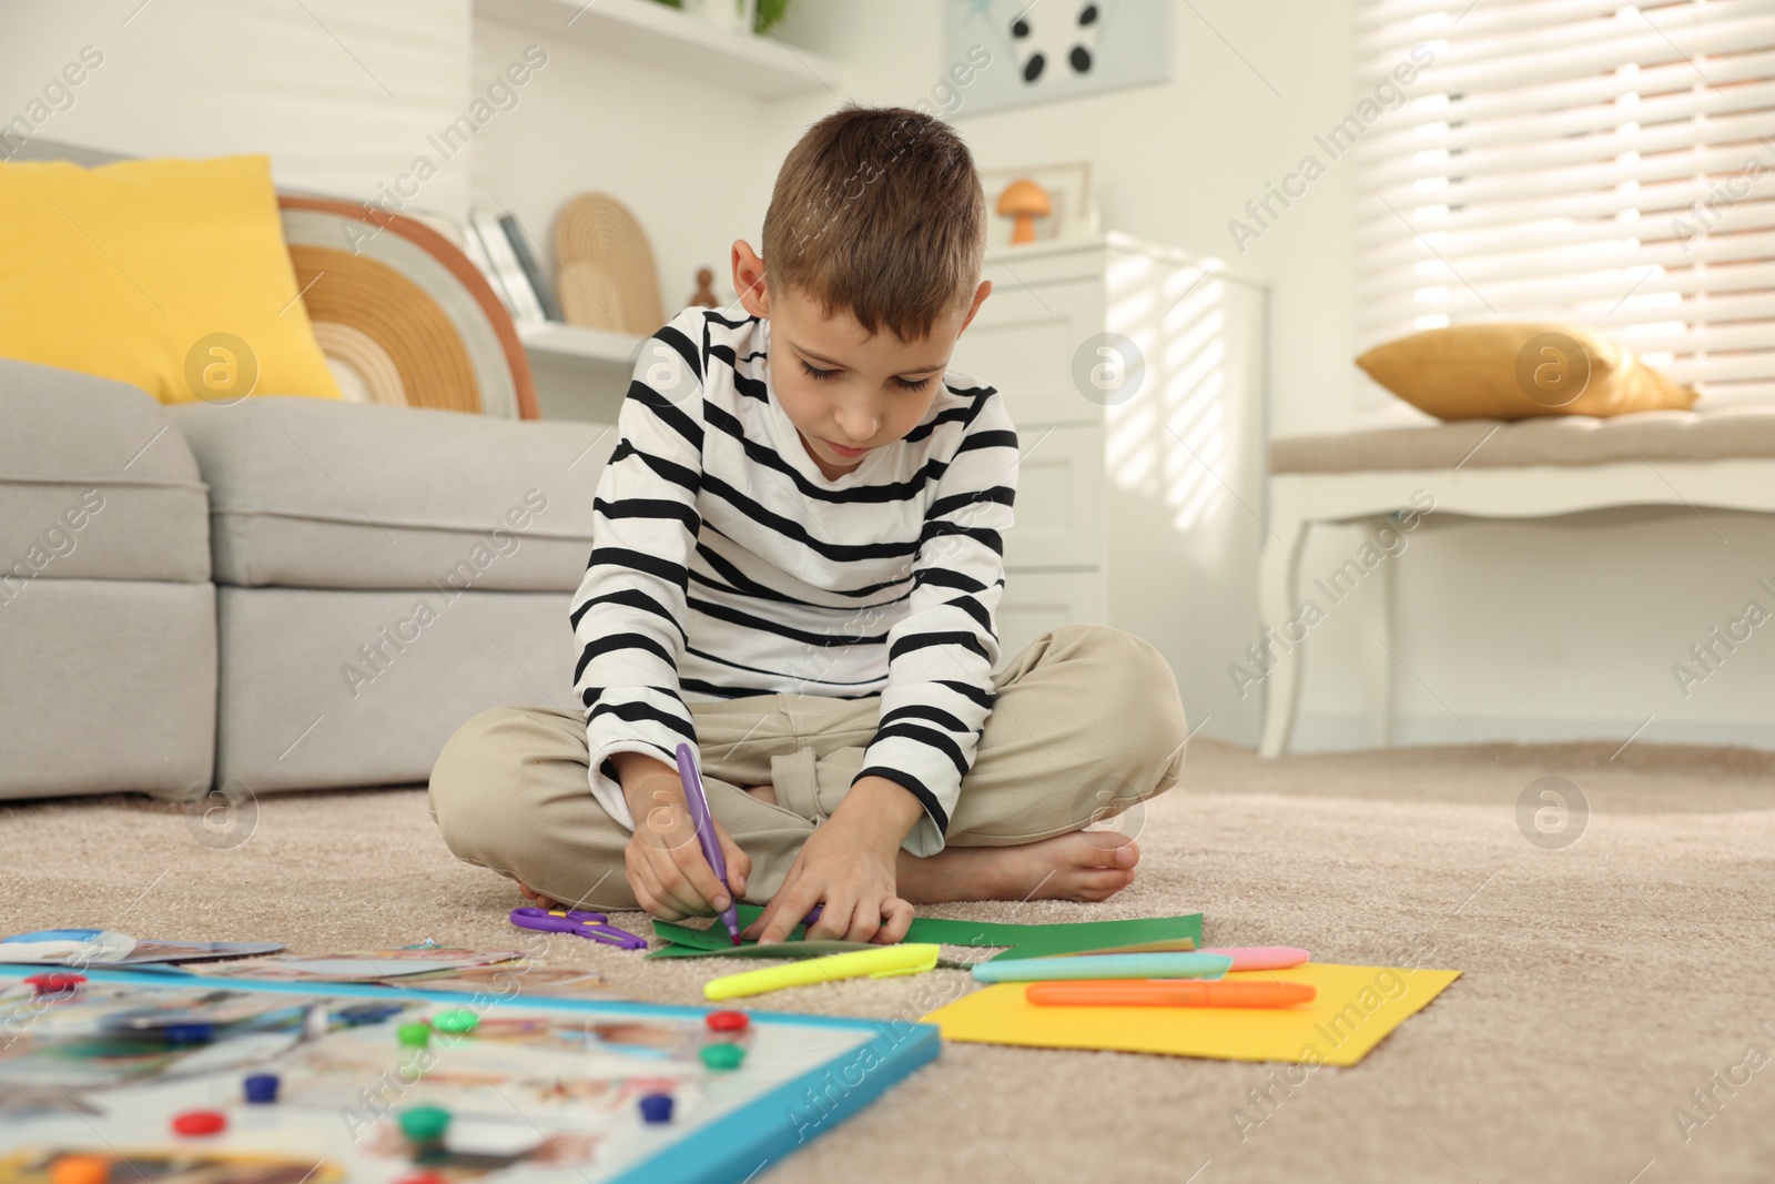
[[(912, 905), (896, 895), (895, 868), (900, 843), (921, 813), (918, 799), (891, 781), (870, 777), (854, 785), (802, 843), (770, 905), (740, 935), (786, 941), (813, 905), (824, 905), (820, 920), (808, 927), (809, 941), (893, 944), (905, 937)], [(909, 818), (903, 825), (902, 815)]]

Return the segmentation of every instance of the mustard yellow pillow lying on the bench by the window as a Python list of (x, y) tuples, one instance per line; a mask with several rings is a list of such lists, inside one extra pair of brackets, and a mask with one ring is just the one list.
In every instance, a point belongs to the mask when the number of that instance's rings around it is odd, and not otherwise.
[(1580, 325), (1431, 328), (1376, 346), (1356, 366), (1438, 419), (1608, 417), (1695, 403), (1693, 391)]

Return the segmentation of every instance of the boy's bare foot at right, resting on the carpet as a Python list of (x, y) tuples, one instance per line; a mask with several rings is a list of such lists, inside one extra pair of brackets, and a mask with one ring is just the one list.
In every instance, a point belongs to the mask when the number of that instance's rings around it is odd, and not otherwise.
[(1115, 831), (1074, 831), (1022, 847), (900, 852), (898, 891), (912, 904), (951, 900), (1108, 900), (1134, 882), (1140, 843)]

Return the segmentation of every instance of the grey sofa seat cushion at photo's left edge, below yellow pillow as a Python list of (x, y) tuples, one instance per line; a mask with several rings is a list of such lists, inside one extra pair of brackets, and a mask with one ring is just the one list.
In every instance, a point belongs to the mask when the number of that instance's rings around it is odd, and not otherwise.
[(32, 579), (209, 579), (197, 462), (144, 391), (0, 360), (0, 604)]

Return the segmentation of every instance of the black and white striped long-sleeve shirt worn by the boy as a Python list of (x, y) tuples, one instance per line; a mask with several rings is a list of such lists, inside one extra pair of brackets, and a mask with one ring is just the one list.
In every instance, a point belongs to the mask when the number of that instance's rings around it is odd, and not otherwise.
[(611, 763), (673, 763), (687, 703), (880, 696), (861, 776), (943, 834), (992, 710), (1017, 433), (953, 371), (919, 424), (827, 479), (770, 385), (770, 321), (685, 309), (643, 348), (573, 596), (591, 793), (634, 827)]

